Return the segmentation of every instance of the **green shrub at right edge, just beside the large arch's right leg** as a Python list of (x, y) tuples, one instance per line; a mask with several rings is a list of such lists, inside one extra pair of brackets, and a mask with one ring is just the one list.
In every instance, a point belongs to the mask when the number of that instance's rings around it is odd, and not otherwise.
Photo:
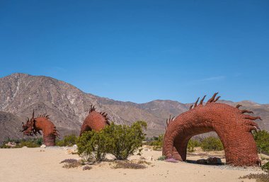
[(269, 154), (269, 132), (262, 130), (253, 133), (258, 152), (262, 154)]

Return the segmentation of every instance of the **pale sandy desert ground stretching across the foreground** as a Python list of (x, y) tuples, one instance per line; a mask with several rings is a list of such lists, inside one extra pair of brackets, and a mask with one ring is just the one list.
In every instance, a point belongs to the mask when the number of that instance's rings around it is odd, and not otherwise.
[[(1, 182), (82, 182), (82, 181), (255, 181), (239, 179), (250, 173), (261, 173), (257, 168), (234, 168), (231, 166), (208, 166), (187, 162), (169, 163), (156, 160), (159, 151), (147, 150), (142, 157), (150, 159), (147, 169), (111, 169), (111, 162), (93, 165), (93, 169), (83, 171), (82, 167), (64, 169), (59, 164), (64, 159), (80, 159), (76, 154), (68, 154), (66, 147), (0, 149)], [(220, 154), (221, 155), (221, 154)], [(206, 156), (188, 156), (188, 160), (206, 159)], [(135, 155), (130, 159), (139, 159)], [(224, 161), (224, 159), (222, 159)]]

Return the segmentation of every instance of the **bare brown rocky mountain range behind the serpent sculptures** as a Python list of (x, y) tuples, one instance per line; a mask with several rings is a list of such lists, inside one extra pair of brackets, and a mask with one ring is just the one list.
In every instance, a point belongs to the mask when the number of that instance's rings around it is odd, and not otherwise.
[[(153, 136), (164, 132), (169, 115), (183, 113), (190, 106), (177, 101), (156, 100), (142, 104), (114, 101), (84, 93), (64, 81), (28, 74), (11, 74), (0, 78), (0, 91), (0, 110), (6, 112), (1, 115), (11, 118), (3, 119), (3, 116), (0, 120), (1, 126), (5, 126), (0, 129), (0, 140), (7, 136), (20, 137), (17, 127), (21, 127), (22, 120), (30, 118), (33, 109), (36, 115), (49, 114), (61, 135), (78, 134), (88, 109), (93, 104), (97, 110), (108, 113), (110, 120), (117, 124), (129, 125), (136, 120), (147, 121), (147, 134)], [(237, 104), (231, 101), (220, 102), (233, 106)], [(240, 103), (253, 110), (255, 115), (261, 115), (264, 120), (258, 123), (263, 129), (269, 130), (269, 123), (266, 123), (269, 121), (269, 105), (251, 101)], [(10, 126), (7, 123), (11, 123)], [(4, 128), (7, 128), (8, 135)]]

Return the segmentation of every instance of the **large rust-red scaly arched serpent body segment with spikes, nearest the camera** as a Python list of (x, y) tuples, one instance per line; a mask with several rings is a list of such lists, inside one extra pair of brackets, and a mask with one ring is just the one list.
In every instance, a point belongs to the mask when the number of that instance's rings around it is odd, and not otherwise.
[(166, 120), (166, 133), (164, 135), (163, 155), (185, 161), (188, 140), (194, 135), (205, 132), (217, 132), (226, 155), (227, 164), (235, 166), (256, 166), (261, 163), (258, 158), (256, 143), (251, 133), (260, 130), (253, 120), (260, 119), (245, 113), (250, 110), (240, 110), (225, 103), (216, 103), (220, 98), (217, 93), (210, 98), (205, 106), (203, 101), (190, 106), (190, 110), (178, 115), (176, 118)]

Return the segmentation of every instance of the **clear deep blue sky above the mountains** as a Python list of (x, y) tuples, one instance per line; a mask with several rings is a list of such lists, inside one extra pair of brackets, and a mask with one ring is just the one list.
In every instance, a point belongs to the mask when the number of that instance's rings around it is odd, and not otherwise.
[(269, 103), (269, 1), (3, 1), (0, 77), (119, 101)]

